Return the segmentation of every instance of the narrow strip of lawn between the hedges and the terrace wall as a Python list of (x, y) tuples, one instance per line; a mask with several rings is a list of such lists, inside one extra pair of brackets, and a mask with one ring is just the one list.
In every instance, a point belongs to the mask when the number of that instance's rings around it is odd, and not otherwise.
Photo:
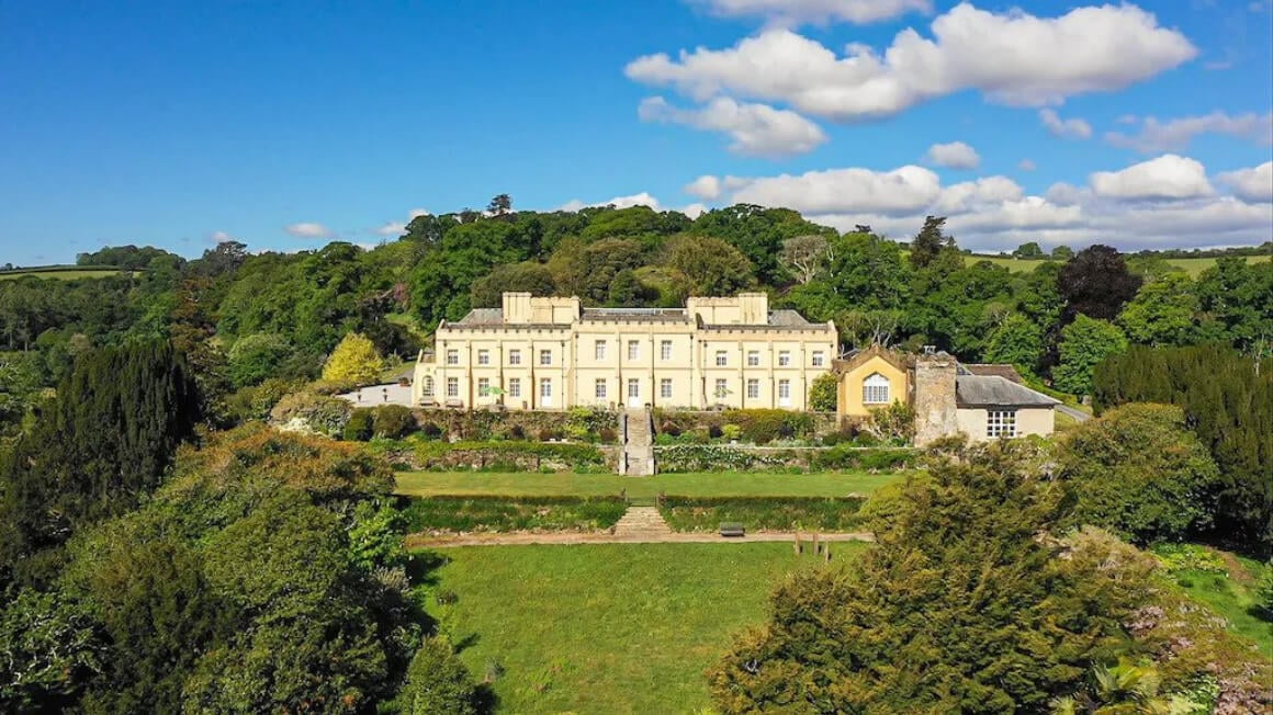
[(659, 492), (677, 496), (847, 496), (869, 494), (905, 478), (904, 473), (815, 472), (782, 475), (765, 472), (700, 472), (620, 477), (537, 472), (400, 472), (397, 492), (407, 496), (476, 495), (503, 496), (603, 496), (628, 490), (629, 496), (648, 497)]

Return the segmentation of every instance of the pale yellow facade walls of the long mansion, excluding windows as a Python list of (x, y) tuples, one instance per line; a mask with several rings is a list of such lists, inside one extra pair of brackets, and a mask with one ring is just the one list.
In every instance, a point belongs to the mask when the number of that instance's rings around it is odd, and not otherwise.
[[(764, 294), (757, 294), (764, 298)], [(507, 294), (505, 310), (518, 310), (523, 300), (518, 294)], [(560, 299), (554, 299), (560, 300)], [(691, 299), (704, 300), (704, 299)], [(733, 309), (737, 299), (731, 300)], [(561, 308), (556, 305), (556, 308)], [(566, 305), (563, 308), (570, 310)], [(722, 309), (729, 309), (728, 305)], [(768, 307), (751, 305), (750, 310)], [(533, 313), (533, 308), (531, 309)], [(741, 313), (740, 313), (741, 314)], [(605, 355), (598, 359), (597, 341), (605, 341)], [(635, 341), (635, 359), (629, 358), (629, 342)], [(662, 356), (663, 341), (671, 341), (670, 359)], [(558, 410), (575, 405), (622, 407), (647, 403), (659, 407), (701, 410), (714, 405), (728, 407), (782, 407), (805, 410), (808, 403), (808, 385), (830, 370), (835, 358), (836, 332), (834, 326), (813, 324), (807, 330), (770, 330), (760, 326), (718, 330), (698, 330), (694, 322), (588, 319), (569, 326), (550, 326), (533, 321), (504, 326), (442, 324), (434, 338), (435, 356), (432, 363), (418, 363), (414, 382), (415, 399), (423, 398), (426, 378), (434, 380), (437, 405), (456, 407), (481, 407), (503, 402), (510, 410)], [(538, 364), (538, 351), (552, 351), (552, 365)], [(447, 351), (456, 350), (458, 364), (447, 365)], [(489, 351), (489, 364), (480, 365), (480, 351)], [(522, 364), (510, 365), (508, 355), (521, 350)], [(726, 351), (726, 365), (717, 366), (715, 352)], [(747, 365), (747, 352), (759, 354), (759, 365)], [(791, 355), (789, 365), (779, 365), (779, 354)], [(813, 365), (813, 354), (821, 354), (821, 366)], [(448, 398), (447, 379), (456, 378), (458, 397)], [(494, 387), (509, 388), (509, 380), (521, 380), (521, 397), (510, 394), (479, 394), (479, 380), (486, 378)], [(545, 405), (540, 397), (540, 380), (552, 380), (552, 401)], [(596, 397), (596, 380), (606, 382), (606, 397)], [(715, 397), (715, 380), (724, 379), (729, 393)], [(747, 380), (757, 380), (759, 394), (747, 397)], [(629, 401), (629, 380), (636, 380), (639, 396)], [(671, 380), (672, 397), (663, 397), (662, 383)], [(788, 380), (791, 397), (778, 397), (780, 380)]]

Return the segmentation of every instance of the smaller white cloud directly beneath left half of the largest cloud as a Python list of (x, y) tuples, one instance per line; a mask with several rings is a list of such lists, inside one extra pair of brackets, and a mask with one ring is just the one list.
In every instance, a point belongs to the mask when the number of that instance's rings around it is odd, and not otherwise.
[(636, 115), (645, 122), (686, 125), (721, 131), (733, 139), (729, 151), (752, 156), (791, 156), (812, 151), (826, 141), (817, 125), (789, 109), (740, 103), (717, 97), (696, 109), (668, 104), (662, 97), (642, 101)]

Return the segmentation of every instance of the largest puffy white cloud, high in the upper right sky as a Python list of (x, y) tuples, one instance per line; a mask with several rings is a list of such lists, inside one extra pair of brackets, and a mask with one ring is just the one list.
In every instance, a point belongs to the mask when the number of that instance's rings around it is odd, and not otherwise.
[(638, 57), (625, 71), (633, 80), (675, 87), (700, 102), (731, 94), (850, 122), (892, 116), (967, 89), (1004, 104), (1055, 104), (1146, 80), (1197, 52), (1180, 32), (1160, 27), (1133, 5), (1039, 18), (964, 3), (933, 20), (932, 38), (905, 29), (882, 53), (854, 43), (840, 57), (794, 32), (768, 29), (726, 50)]

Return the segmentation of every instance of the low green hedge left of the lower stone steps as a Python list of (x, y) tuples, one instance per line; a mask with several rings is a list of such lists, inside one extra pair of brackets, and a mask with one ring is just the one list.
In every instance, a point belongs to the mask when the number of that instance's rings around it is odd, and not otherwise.
[(429, 496), (404, 514), (412, 533), (560, 532), (608, 529), (626, 510), (619, 496)]

